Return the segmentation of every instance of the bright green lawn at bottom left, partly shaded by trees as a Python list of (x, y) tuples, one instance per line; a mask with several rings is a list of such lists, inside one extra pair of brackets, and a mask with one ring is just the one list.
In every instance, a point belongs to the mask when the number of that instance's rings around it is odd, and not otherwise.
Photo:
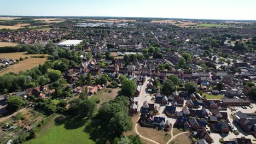
[(69, 143), (96, 143), (90, 139), (90, 134), (85, 127), (90, 121), (74, 118), (51, 118), (36, 136), (36, 139), (25, 142), (25, 144), (69, 144)]

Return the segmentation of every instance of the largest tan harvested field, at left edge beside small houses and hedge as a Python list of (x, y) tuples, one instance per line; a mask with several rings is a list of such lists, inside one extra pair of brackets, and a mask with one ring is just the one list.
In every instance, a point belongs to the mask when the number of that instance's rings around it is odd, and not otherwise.
[[(13, 72), (13, 73), (19, 73), (19, 71), (26, 71), (29, 69), (32, 69), (34, 67), (37, 67), (39, 64), (43, 64), (47, 61), (47, 57), (44, 58), (33, 58), (31, 56), (42, 56), (42, 55), (25, 55), (26, 52), (13, 52), (13, 53), (0, 53), (0, 58), (9, 58), (9, 59), (19, 59), (20, 57), (27, 59), (24, 59), (24, 61), (20, 61), (18, 64), (11, 65), (9, 68), (3, 70), (0, 72), (0, 76)], [(44, 55), (49, 56), (49, 55)]]

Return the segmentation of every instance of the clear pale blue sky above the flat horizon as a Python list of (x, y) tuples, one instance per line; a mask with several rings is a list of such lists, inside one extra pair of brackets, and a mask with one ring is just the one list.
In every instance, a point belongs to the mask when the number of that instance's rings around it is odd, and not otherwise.
[(0, 0), (0, 15), (256, 20), (256, 0)]

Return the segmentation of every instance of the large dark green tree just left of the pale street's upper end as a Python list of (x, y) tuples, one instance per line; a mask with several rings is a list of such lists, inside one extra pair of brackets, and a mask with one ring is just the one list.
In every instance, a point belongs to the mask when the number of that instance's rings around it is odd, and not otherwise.
[(136, 85), (132, 80), (124, 79), (121, 82), (121, 93), (127, 97), (131, 97), (136, 90)]

